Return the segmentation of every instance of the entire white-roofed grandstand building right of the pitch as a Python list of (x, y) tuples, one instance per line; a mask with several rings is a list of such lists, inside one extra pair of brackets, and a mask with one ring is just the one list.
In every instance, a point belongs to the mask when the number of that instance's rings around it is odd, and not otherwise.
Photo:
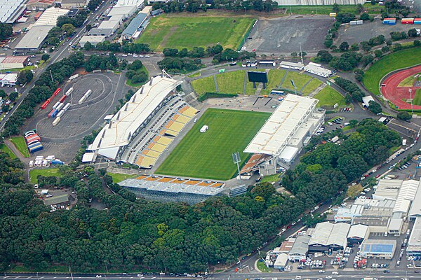
[(269, 120), (255, 135), (244, 153), (266, 155), (259, 163), (261, 176), (276, 173), (277, 165), (289, 167), (290, 162), (307, 145), (324, 122), (318, 100), (287, 94)]

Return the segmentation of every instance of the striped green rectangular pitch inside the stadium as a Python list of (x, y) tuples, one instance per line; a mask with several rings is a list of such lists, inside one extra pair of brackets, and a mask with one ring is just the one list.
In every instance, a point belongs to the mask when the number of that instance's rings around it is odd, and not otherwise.
[[(243, 153), (270, 113), (208, 109), (156, 170), (157, 174), (228, 180), (236, 174), (232, 153)], [(203, 125), (209, 129), (199, 130)]]

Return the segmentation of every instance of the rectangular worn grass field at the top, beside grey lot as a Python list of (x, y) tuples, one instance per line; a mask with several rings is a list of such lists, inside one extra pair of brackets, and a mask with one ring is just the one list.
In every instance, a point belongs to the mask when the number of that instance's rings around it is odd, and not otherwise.
[(152, 50), (164, 48), (206, 48), (219, 43), (236, 50), (253, 24), (253, 18), (211, 15), (160, 15), (151, 18), (136, 43), (147, 43)]

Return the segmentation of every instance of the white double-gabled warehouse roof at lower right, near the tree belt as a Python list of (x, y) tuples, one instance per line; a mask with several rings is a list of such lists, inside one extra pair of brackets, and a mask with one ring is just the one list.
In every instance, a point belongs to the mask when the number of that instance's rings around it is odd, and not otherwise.
[(318, 223), (309, 241), (309, 245), (340, 245), (345, 247), (347, 246), (347, 235), (350, 227), (351, 225), (348, 223)]

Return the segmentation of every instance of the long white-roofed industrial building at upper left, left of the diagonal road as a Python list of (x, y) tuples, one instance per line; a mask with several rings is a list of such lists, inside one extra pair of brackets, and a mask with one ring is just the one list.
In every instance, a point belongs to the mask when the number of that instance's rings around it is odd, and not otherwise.
[(69, 10), (60, 9), (60, 8), (48, 8), (41, 15), (41, 17), (36, 20), (34, 25), (29, 29), (27, 34), (19, 41), (15, 46), (15, 53), (28, 53), (36, 52), (41, 47), (42, 43), (48, 35), (55, 24), (57, 23), (57, 18), (60, 15), (67, 15)]

